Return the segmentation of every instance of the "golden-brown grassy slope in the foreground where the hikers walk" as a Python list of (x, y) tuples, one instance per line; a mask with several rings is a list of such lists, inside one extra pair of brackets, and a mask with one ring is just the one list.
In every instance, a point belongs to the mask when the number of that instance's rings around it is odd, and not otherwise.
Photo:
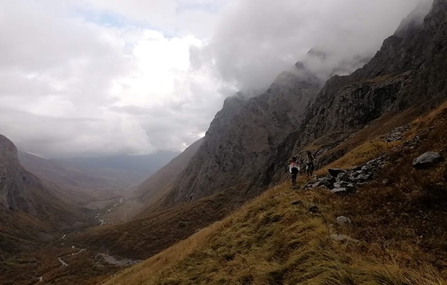
[[(416, 148), (369, 140), (331, 165), (348, 167), (385, 152), (392, 163), (378, 180), (388, 179), (387, 186), (375, 181), (338, 197), (324, 189), (293, 192), (285, 183), (106, 284), (446, 284), (447, 162), (411, 166), (424, 151), (445, 156), (446, 129), (444, 104), (414, 121), (406, 139), (419, 135)], [(309, 213), (311, 205), (320, 213)], [(353, 226), (334, 226), (341, 215)], [(333, 241), (335, 232), (360, 242)]]

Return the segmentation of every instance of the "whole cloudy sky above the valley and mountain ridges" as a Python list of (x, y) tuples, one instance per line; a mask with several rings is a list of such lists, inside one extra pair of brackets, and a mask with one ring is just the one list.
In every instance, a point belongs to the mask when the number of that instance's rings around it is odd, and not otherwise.
[(2, 0), (0, 134), (45, 158), (183, 150), (226, 97), (311, 48), (347, 74), (429, 2)]

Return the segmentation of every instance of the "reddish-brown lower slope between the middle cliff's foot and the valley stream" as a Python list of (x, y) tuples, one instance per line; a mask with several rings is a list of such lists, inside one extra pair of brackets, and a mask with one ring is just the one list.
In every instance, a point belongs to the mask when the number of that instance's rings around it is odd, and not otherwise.
[(68, 239), (76, 244), (108, 250), (115, 255), (145, 259), (234, 211), (242, 203), (235, 195), (238, 191), (237, 188), (230, 188), (199, 201), (154, 212), (144, 218), (92, 227), (73, 233)]

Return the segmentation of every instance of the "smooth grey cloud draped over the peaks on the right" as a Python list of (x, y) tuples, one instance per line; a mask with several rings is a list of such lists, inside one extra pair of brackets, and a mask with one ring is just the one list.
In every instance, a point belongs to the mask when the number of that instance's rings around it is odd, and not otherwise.
[(314, 48), (327, 54), (324, 63), (312, 65), (327, 79), (339, 66), (346, 73), (371, 58), (421, 2), (431, 0), (238, 1), (223, 12), (209, 45), (193, 60), (208, 58), (222, 78), (252, 89), (267, 87)]

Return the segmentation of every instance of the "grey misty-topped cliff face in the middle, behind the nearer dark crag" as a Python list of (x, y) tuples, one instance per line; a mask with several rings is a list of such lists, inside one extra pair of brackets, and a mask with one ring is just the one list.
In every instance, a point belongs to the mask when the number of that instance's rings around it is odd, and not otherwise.
[(319, 91), (319, 80), (302, 66), (282, 73), (260, 96), (229, 98), (202, 146), (174, 184), (167, 202), (196, 200), (252, 182), (276, 146), (300, 122)]

